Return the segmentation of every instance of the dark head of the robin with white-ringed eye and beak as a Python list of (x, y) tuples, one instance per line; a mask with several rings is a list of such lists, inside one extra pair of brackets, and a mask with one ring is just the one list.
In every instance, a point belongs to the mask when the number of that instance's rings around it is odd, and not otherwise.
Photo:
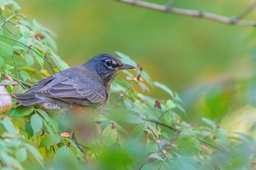
[(94, 67), (103, 84), (110, 84), (122, 69), (134, 69), (132, 65), (124, 64), (119, 58), (110, 54), (96, 55), (87, 62)]

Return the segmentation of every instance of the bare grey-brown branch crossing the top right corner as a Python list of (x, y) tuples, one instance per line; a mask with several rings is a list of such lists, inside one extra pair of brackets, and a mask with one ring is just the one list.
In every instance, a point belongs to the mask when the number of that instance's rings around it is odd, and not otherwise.
[(170, 8), (169, 6), (154, 4), (146, 1), (134, 1), (134, 0), (116, 0), (116, 1), (124, 2), (134, 6), (141, 6), (143, 8), (150, 8), (156, 11), (163, 11), (166, 13), (176, 13), (183, 16), (206, 18), (211, 21), (226, 23), (226, 24), (235, 25), (235, 26), (256, 26), (255, 21), (240, 20), (240, 18), (244, 18), (245, 16), (247, 16), (247, 14), (250, 13), (252, 9), (256, 7), (256, 4), (252, 4), (252, 6), (247, 8), (247, 10), (241, 13), (240, 16), (234, 18), (234, 17), (227, 17), (227, 16), (219, 16), (215, 13), (208, 13), (208, 12), (186, 9), (186, 8), (173, 8), (173, 7)]

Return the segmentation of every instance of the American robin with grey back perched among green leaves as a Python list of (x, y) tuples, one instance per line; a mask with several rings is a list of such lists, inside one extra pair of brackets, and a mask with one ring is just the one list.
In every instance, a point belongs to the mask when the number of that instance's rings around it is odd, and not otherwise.
[(121, 69), (134, 69), (110, 54), (46, 77), (25, 94), (15, 94), (21, 106), (38, 105), (46, 110), (86, 108), (102, 110), (110, 98), (110, 84)]

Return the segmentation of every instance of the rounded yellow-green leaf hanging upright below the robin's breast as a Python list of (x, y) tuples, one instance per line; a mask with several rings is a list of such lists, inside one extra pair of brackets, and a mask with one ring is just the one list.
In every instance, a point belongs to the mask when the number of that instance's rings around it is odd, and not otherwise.
[(112, 128), (112, 125), (107, 125), (107, 127), (102, 131), (102, 144), (106, 147), (110, 147), (117, 142), (117, 130)]

